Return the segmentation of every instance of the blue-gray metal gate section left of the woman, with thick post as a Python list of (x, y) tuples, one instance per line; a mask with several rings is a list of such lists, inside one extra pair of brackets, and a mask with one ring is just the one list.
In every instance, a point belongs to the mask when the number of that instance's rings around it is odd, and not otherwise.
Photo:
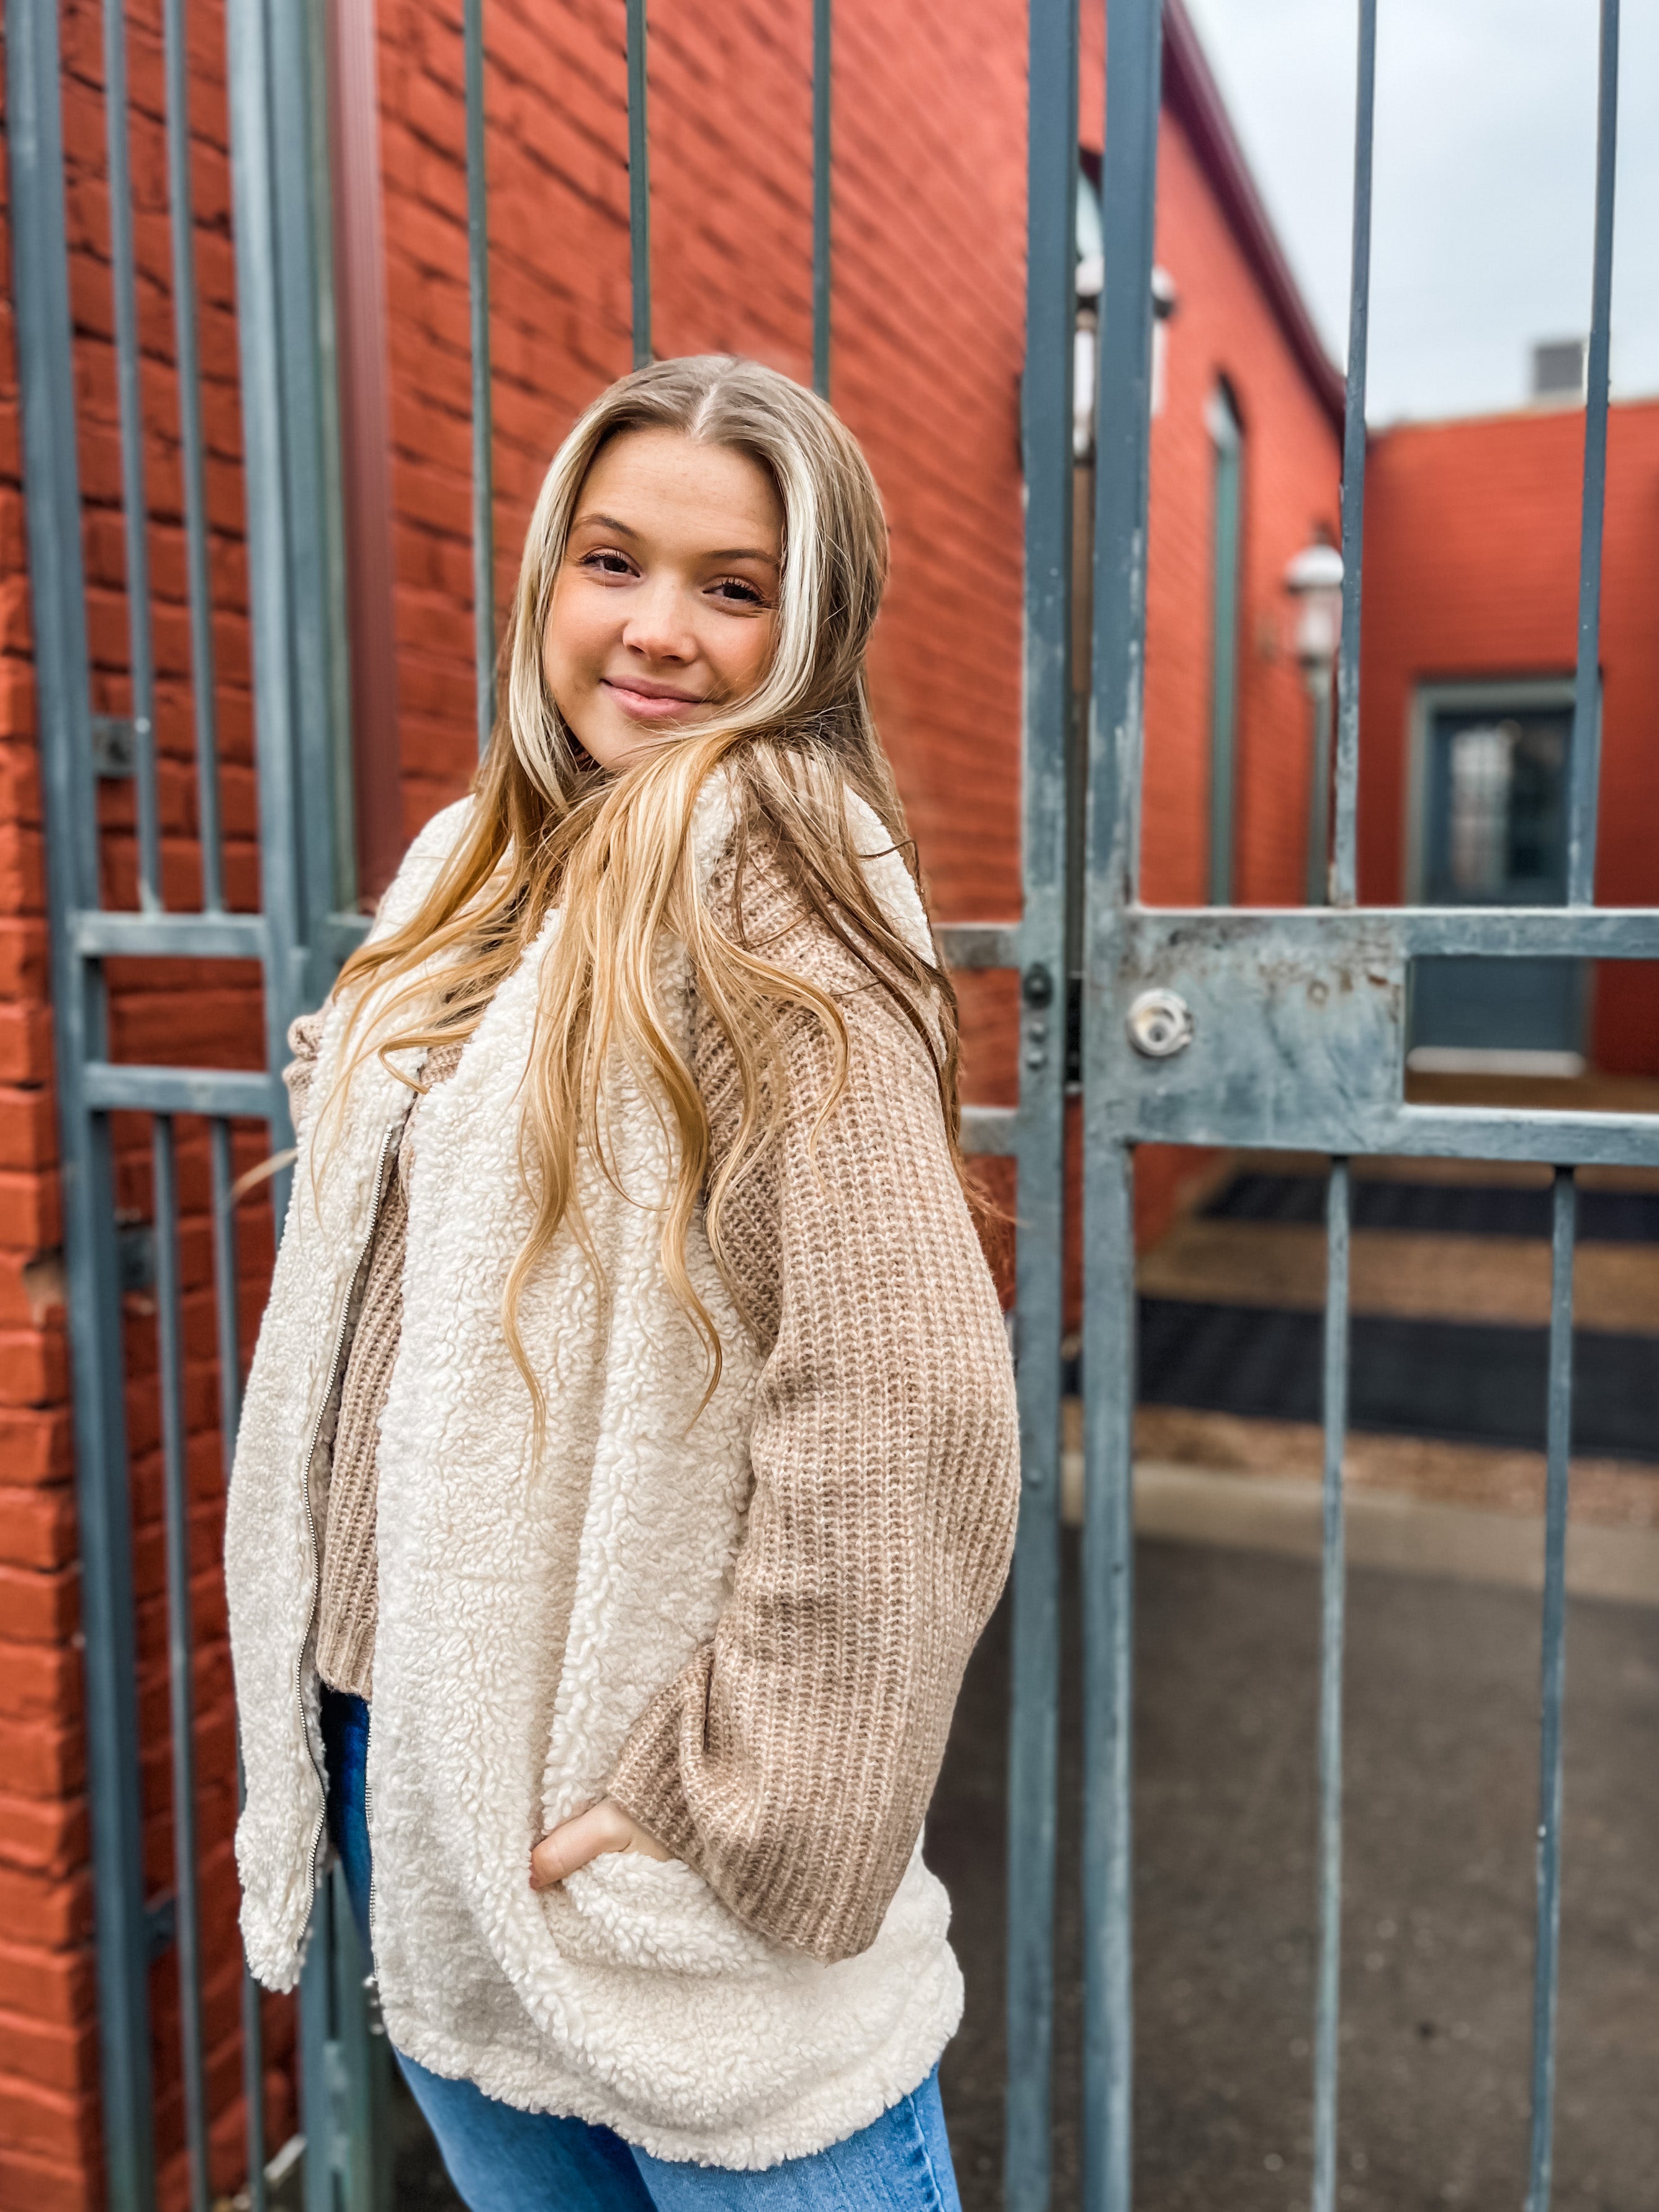
[[(226, 898), (221, 745), (215, 675), (215, 577), (206, 495), (197, 232), (190, 206), (188, 22), (164, 0), (166, 148), (173, 228), (173, 341), (195, 719), (195, 911), (164, 900), (157, 668), (153, 650), (146, 420), (139, 403), (126, 13), (104, 7), (106, 179), (119, 398), (122, 522), (131, 712), (93, 714), (77, 482), (75, 347), (64, 223), (62, 82), (55, 0), (9, 0), (7, 128), (15, 254), (22, 445), (29, 498), (35, 672), (46, 807), (51, 980), (62, 1135), (64, 1245), (80, 1495), (86, 1745), (97, 1905), (100, 2055), (108, 2203), (157, 2201), (150, 2081), (150, 1960), (177, 1953), (184, 2139), (190, 2203), (206, 2212), (208, 2028), (204, 2004), (197, 1725), (190, 1619), (190, 1480), (186, 1467), (186, 1281), (179, 1250), (179, 1124), (206, 1124), (219, 1431), (237, 1429), (237, 1237), (232, 1130), (259, 1124), (259, 1148), (288, 1141), (276, 1071), (288, 1022), (319, 1004), (363, 922), (349, 911), (349, 818), (338, 818), (341, 531), (334, 471), (327, 263), (321, 248), (321, 13), (283, 0), (230, 0), (230, 128), (241, 338), (243, 493), (254, 633), (259, 768), (259, 911)], [(299, 155), (299, 157), (296, 157)], [(97, 783), (133, 779), (137, 905), (104, 905)], [(259, 962), (265, 1068), (135, 1066), (108, 1055), (106, 962)], [(195, 969), (181, 967), (179, 991)], [(155, 1356), (166, 1513), (173, 1889), (146, 1898), (139, 1803), (144, 1752), (133, 1604), (133, 1511), (124, 1391), (124, 1241), (115, 1206), (111, 1117), (150, 1119)], [(281, 1179), (276, 1203), (281, 1208)], [(197, 1562), (199, 1566), (201, 1562)], [(323, 1940), (301, 1989), (303, 2121), (314, 2150), (307, 2212), (372, 2203), (374, 2059), (363, 2006), (365, 1964), (349, 1911), (325, 1896)], [(265, 2203), (261, 2013), (243, 1989), (248, 2177)], [(380, 2161), (383, 2163), (383, 2161)]]

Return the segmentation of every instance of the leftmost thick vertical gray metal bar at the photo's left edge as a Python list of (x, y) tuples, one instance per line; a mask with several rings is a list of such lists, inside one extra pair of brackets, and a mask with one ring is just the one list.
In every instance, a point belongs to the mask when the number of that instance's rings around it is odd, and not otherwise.
[(148, 1936), (115, 1181), (108, 1119), (88, 1113), (82, 1084), (86, 1060), (104, 1051), (104, 1000), (95, 964), (82, 962), (71, 942), (75, 909), (97, 905), (97, 803), (62, 95), (58, 9), (40, 0), (7, 0), (7, 157), (69, 1263), (104, 2174), (111, 2212), (153, 2212)]

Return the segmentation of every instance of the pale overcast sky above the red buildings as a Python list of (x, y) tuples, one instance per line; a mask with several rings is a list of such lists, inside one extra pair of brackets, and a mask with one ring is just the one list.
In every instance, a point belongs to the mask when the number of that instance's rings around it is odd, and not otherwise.
[[(1347, 334), (1354, 0), (1188, 0), (1336, 361)], [(1590, 321), (1597, 0), (1383, 0), (1369, 407), (1482, 414)], [(1624, 0), (1613, 392), (1659, 394), (1659, 0)]]

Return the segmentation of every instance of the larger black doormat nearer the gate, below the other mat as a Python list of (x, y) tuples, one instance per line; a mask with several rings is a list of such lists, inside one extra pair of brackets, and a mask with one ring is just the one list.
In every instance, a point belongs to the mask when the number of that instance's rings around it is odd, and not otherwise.
[[(1321, 1418), (1321, 1314), (1141, 1298), (1139, 1316), (1144, 1405), (1256, 1420)], [(1360, 1314), (1349, 1425), (1542, 1451), (1546, 1360), (1544, 1329)], [(1577, 1334), (1573, 1451), (1659, 1462), (1659, 1336)]]

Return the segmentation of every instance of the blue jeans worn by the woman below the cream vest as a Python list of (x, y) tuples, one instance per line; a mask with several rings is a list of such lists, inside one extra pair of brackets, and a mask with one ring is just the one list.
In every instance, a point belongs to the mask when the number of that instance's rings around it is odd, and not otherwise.
[[(323, 1690), (327, 1832), (367, 1942), (369, 1823), (363, 1772), (369, 1708)], [(611, 2128), (557, 2112), (520, 2112), (476, 2081), (398, 2066), (471, 2212), (962, 2212), (938, 2097), (938, 2066), (858, 2135), (765, 2172), (653, 2159)]]

